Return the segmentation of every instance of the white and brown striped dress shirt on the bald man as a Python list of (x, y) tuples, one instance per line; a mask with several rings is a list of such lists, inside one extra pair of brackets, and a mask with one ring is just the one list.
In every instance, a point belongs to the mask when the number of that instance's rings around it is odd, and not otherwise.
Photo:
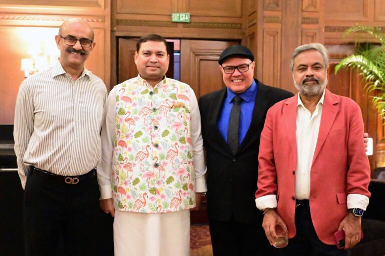
[(106, 99), (100, 78), (84, 68), (74, 81), (60, 62), (22, 82), (14, 138), (23, 189), (30, 166), (63, 176), (96, 167)]

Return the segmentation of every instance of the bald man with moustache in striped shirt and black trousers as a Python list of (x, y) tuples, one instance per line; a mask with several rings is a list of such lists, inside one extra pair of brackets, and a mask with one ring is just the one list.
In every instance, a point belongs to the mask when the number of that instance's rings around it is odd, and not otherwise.
[(25, 189), (26, 255), (54, 255), (60, 233), (70, 255), (96, 255), (100, 130), (107, 90), (84, 68), (95, 48), (91, 26), (64, 22), (60, 59), (20, 86), (15, 152)]

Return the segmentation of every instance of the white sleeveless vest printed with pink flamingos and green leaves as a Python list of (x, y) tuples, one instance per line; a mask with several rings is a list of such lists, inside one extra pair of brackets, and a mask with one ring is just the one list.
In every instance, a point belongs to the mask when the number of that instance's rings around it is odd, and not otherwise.
[(193, 207), (195, 179), (185, 177), (186, 170), (194, 173), (188, 98), (194, 92), (168, 78), (152, 87), (139, 76), (113, 90), (113, 180), (115, 185), (120, 182), (113, 193), (118, 210), (161, 213)]

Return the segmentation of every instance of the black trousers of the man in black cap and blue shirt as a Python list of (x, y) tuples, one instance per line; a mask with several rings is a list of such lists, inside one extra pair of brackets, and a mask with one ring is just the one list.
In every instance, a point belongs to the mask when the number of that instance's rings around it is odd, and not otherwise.
[(209, 219), (214, 256), (275, 256), (277, 250), (270, 245), (258, 224)]

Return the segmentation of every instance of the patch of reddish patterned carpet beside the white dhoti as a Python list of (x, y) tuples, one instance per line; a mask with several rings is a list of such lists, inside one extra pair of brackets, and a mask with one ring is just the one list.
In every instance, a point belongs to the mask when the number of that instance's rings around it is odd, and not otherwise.
[(213, 256), (209, 225), (191, 225), (190, 256)]

